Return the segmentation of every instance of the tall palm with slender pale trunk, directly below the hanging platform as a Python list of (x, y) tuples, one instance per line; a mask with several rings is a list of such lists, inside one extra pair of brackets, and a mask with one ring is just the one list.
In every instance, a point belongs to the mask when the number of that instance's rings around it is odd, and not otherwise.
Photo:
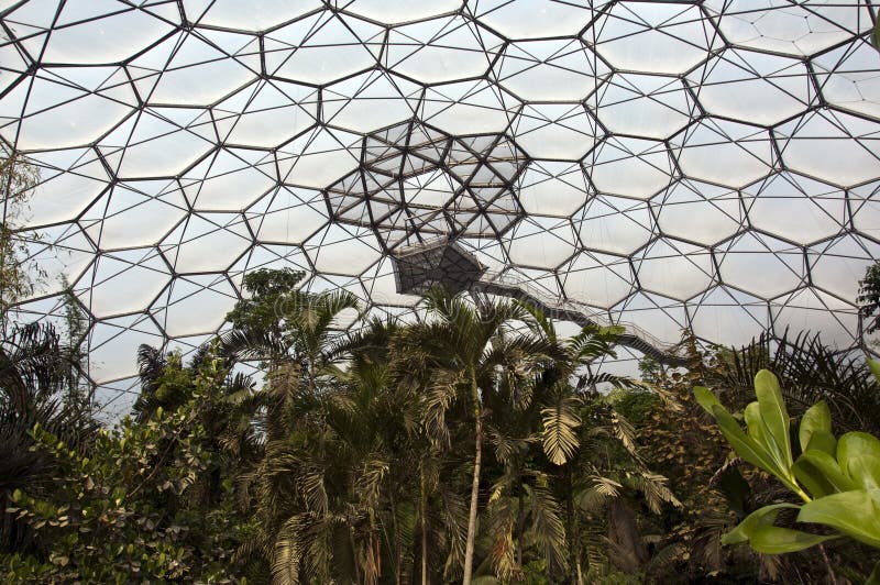
[(474, 454), (463, 569), (463, 583), (470, 585), (483, 464), (484, 397), (496, 390), (502, 377), (537, 375), (550, 346), (536, 335), (514, 334), (516, 322), (531, 318), (517, 302), (477, 299), (472, 305), (461, 296), (435, 289), (427, 297), (427, 308), (431, 320), (407, 328), (398, 343), (409, 347), (415, 368), (430, 372), (426, 419), (435, 439), (449, 441), (447, 411), (457, 404), (470, 411)]

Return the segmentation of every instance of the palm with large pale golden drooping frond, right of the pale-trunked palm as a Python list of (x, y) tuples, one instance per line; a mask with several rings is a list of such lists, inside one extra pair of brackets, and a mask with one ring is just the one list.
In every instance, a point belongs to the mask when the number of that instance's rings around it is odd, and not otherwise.
[[(569, 581), (583, 583), (581, 552), (591, 540), (588, 527), (582, 526), (585, 512), (606, 509), (627, 493), (641, 496), (654, 511), (663, 503), (678, 505), (678, 500), (667, 488), (666, 478), (645, 465), (632, 427), (597, 391), (601, 385), (638, 385), (628, 377), (591, 367), (602, 357), (615, 356), (613, 345), (622, 330), (587, 325), (572, 338), (561, 339), (540, 310), (526, 308), (534, 317), (532, 329), (554, 347), (554, 361), (541, 374), (536, 390), (540, 440), (550, 463), (544, 472), (557, 476), (554, 493), (565, 505)], [(668, 400), (666, 395), (661, 398)]]

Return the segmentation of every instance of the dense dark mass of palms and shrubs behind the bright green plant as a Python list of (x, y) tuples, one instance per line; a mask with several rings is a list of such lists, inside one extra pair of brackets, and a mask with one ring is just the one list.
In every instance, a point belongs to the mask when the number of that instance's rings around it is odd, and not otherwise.
[[(14, 582), (630, 583), (864, 580), (876, 551), (725, 547), (796, 501), (732, 459), (692, 398), (741, 409), (778, 373), (794, 418), (823, 398), (837, 430), (877, 432), (860, 361), (804, 338), (701, 353), (644, 380), (595, 374), (615, 331), (558, 335), (512, 301), (435, 291), (430, 318), (370, 322), (346, 292), (258, 271), (232, 329), (187, 361), (143, 346), (142, 388), (95, 420), (81, 356), (47, 325), (0, 347), (0, 562)], [(261, 362), (262, 386), (235, 374)], [(610, 390), (610, 391), (608, 391)], [(780, 516), (777, 525), (794, 526)]]

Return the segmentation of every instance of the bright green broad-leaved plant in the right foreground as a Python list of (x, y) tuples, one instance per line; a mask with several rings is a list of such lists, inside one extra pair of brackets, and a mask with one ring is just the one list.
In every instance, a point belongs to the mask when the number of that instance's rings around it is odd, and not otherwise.
[[(880, 374), (880, 364), (871, 363)], [(748, 542), (758, 552), (795, 552), (843, 536), (880, 549), (880, 440), (867, 432), (832, 433), (827, 405), (816, 402), (798, 429), (800, 455), (791, 442), (792, 421), (778, 378), (762, 369), (755, 377), (757, 401), (744, 418), (747, 430), (707, 388), (697, 386), (700, 405), (717, 421), (736, 453), (774, 476), (803, 504), (765, 506), (747, 516), (723, 542)], [(796, 521), (821, 525), (831, 532), (795, 530), (774, 523), (783, 509), (798, 510)], [(876, 576), (871, 581), (877, 581)]]

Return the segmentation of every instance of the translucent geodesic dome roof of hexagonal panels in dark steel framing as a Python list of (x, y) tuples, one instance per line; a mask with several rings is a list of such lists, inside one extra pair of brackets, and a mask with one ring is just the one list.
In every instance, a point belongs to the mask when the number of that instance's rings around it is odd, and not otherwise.
[(208, 339), (258, 267), (417, 314), (392, 256), (435, 238), (666, 341), (860, 341), (867, 0), (0, 7), (0, 137), (40, 170), (47, 274), (19, 318), (59, 318), (69, 283), (108, 391), (139, 344)]

